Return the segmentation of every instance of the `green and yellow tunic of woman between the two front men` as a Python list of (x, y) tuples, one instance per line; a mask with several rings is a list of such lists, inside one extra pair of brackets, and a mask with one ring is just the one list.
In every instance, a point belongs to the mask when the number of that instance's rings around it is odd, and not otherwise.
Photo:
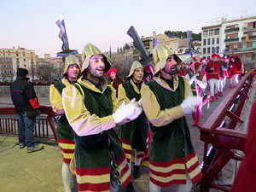
[[(143, 84), (143, 83), (142, 83)], [(137, 85), (130, 79), (129, 82), (119, 84), (119, 103), (125, 101), (129, 103), (131, 99), (136, 98), (137, 101), (141, 98), (140, 90)], [(146, 152), (147, 150), (147, 137), (148, 137), (148, 119), (145, 113), (141, 113), (137, 119), (119, 126), (119, 139), (122, 142), (125, 156), (130, 162), (132, 149), (137, 149), (140, 152)], [(139, 153), (137, 158), (143, 157), (143, 153)]]

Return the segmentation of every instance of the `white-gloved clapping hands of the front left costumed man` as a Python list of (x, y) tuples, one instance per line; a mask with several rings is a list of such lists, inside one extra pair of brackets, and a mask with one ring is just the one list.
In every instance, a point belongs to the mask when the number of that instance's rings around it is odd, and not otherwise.
[(113, 119), (116, 125), (124, 124), (125, 119), (133, 120), (136, 119), (140, 113), (142, 113), (143, 108), (137, 107), (136, 99), (132, 99), (129, 104), (125, 105), (125, 102), (113, 113)]

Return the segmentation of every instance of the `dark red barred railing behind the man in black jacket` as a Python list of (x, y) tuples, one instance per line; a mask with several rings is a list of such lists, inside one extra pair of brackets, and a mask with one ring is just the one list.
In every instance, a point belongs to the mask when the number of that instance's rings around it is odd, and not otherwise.
[[(36, 119), (34, 136), (56, 140), (55, 113), (49, 106), (41, 106), (40, 110), (41, 115)], [(1, 114), (3, 116), (0, 116), (0, 135), (18, 135), (19, 118), (15, 108), (0, 108)]]

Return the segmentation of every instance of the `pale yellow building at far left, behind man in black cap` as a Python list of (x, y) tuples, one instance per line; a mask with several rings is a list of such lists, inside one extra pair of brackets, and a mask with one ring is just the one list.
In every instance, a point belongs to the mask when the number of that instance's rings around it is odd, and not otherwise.
[(18, 67), (26, 68), (34, 78), (38, 67), (38, 55), (32, 49), (0, 49), (1, 75), (4, 81), (13, 81)]

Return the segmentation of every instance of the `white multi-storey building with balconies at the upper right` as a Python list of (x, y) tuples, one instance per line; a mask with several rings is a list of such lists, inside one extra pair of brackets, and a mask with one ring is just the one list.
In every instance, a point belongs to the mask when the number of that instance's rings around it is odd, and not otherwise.
[(207, 58), (216, 50), (220, 55), (239, 55), (244, 64), (255, 66), (256, 16), (219, 18), (212, 24), (202, 27), (202, 56)]

